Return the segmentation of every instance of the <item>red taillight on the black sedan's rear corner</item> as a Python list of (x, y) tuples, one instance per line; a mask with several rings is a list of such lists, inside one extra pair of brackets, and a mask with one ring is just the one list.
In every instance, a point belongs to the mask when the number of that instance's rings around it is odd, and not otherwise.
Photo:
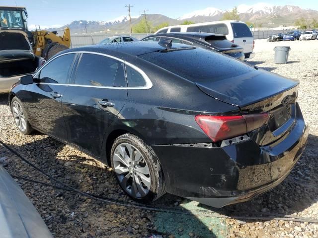
[(264, 125), (269, 114), (244, 116), (208, 116), (197, 115), (195, 121), (214, 142), (246, 134), (248, 131)]

